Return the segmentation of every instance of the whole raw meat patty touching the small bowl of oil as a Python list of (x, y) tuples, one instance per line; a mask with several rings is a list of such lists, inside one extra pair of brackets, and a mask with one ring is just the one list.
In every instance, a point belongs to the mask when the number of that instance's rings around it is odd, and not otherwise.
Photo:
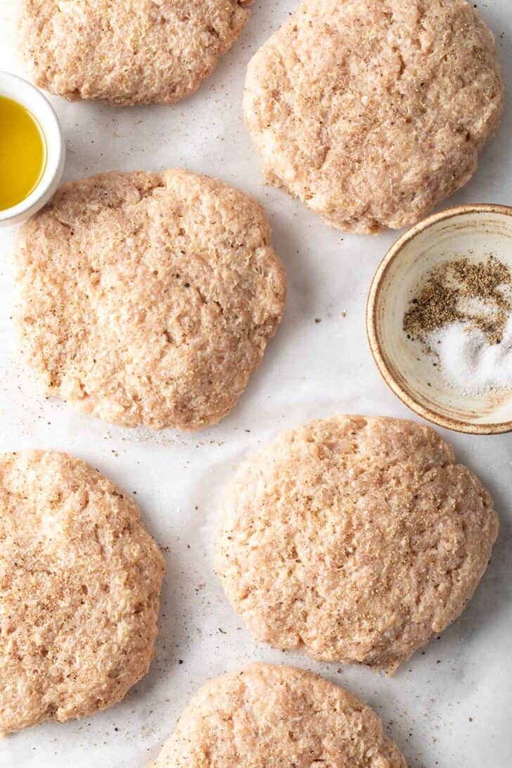
[(107, 422), (201, 429), (233, 408), (285, 300), (263, 209), (167, 170), (64, 186), (16, 243), (23, 348)]

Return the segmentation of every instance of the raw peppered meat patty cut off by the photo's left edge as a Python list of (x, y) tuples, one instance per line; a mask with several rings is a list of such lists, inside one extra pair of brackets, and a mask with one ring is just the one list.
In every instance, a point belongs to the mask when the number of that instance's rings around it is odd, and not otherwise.
[(154, 657), (164, 561), (134, 502), (74, 456), (0, 457), (0, 731), (120, 701)]

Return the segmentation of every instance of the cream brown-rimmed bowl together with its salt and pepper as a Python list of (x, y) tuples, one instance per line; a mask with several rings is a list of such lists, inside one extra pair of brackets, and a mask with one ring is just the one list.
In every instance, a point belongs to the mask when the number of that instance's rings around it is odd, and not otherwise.
[(512, 208), (451, 208), (408, 230), (378, 266), (366, 324), (409, 408), (458, 432), (511, 431)]

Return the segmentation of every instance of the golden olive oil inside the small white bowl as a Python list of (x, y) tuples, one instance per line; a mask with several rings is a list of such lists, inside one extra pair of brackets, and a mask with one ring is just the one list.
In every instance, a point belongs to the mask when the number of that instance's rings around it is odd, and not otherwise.
[(46, 166), (46, 142), (38, 121), (10, 98), (0, 96), (0, 210), (28, 197)]

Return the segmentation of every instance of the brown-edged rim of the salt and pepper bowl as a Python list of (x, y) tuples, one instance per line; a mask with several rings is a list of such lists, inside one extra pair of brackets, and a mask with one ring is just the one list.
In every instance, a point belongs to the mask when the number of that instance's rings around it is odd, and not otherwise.
[(418, 234), (424, 232), (424, 230), (428, 230), (440, 221), (456, 218), (457, 216), (462, 216), (464, 214), (500, 214), (502, 216), (512, 217), (512, 206), (494, 203), (474, 203), (446, 208), (437, 214), (431, 214), (431, 216), (419, 221), (414, 227), (411, 227), (411, 229), (402, 234), (401, 237), (398, 237), (398, 240), (396, 240), (387, 253), (385, 253), (385, 257), (378, 265), (370, 285), (368, 300), (366, 302), (366, 336), (368, 338), (368, 345), (370, 346), (375, 365), (382, 378), (385, 380), (389, 389), (391, 389), (391, 392), (393, 392), (405, 406), (408, 406), (411, 411), (414, 411), (423, 419), (427, 419), (428, 422), (446, 429), (451, 429), (454, 432), (465, 432), (470, 435), (500, 435), (504, 432), (512, 432), (512, 420), (507, 422), (495, 422), (493, 424), (473, 424), (461, 419), (451, 419), (449, 416), (441, 415), (434, 409), (424, 406), (422, 402), (412, 396), (411, 392), (404, 389), (395, 379), (395, 376), (386, 362), (378, 336), (376, 310), (382, 283), (391, 263), (398, 257), (405, 246), (418, 236)]

